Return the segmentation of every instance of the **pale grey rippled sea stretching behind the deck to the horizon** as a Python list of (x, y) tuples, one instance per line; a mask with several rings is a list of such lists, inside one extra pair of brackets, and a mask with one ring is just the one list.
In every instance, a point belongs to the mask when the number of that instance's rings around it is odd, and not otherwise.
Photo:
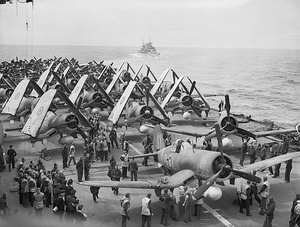
[[(156, 77), (167, 69), (189, 76), (204, 94), (229, 94), (231, 111), (283, 126), (300, 122), (300, 50), (156, 47), (158, 59), (138, 55), (139, 47), (0, 45), (0, 61), (67, 57), (80, 63), (127, 61), (135, 71), (146, 64)], [(168, 77), (171, 79), (171, 77)], [(209, 97), (217, 108), (223, 96)]]

